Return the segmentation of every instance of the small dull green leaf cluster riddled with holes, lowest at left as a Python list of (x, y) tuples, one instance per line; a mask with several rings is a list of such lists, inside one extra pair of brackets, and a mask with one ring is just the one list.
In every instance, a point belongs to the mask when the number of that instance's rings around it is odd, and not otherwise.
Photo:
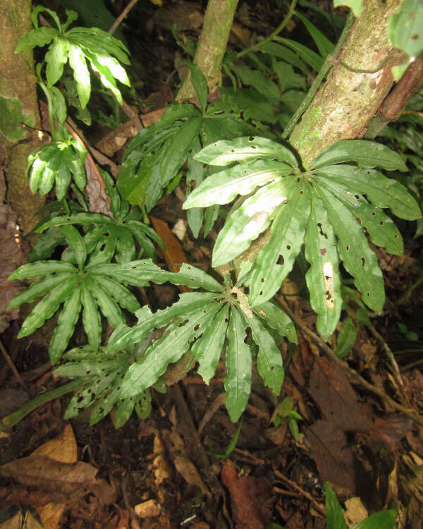
[(122, 399), (121, 384), (131, 363), (140, 358), (149, 343), (147, 340), (128, 346), (125, 351), (108, 353), (102, 348), (75, 347), (63, 355), (66, 363), (54, 370), (55, 375), (77, 379), (81, 387), (66, 408), (64, 418), (71, 419), (81, 410), (91, 407), (90, 425), (95, 425), (114, 408), (114, 426), (122, 427), (134, 409), (138, 417), (146, 418), (151, 411), (149, 388)]

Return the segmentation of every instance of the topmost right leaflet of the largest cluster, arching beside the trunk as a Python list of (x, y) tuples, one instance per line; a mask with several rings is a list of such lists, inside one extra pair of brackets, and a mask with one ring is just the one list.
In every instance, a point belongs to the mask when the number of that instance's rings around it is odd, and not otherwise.
[(331, 164), (357, 162), (362, 167), (382, 167), (386, 171), (408, 171), (398, 153), (369, 140), (340, 140), (314, 158), (310, 169), (319, 169)]

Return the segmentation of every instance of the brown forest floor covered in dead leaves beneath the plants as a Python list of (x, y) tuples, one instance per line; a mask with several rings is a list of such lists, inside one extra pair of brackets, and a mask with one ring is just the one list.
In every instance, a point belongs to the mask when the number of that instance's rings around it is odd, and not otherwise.
[[(192, 3), (190, 13), (195, 31), (200, 11)], [(160, 30), (155, 23), (151, 32), (168, 32), (166, 20)], [(155, 83), (158, 76), (165, 83), (173, 69), (166, 71), (174, 48), (162, 47), (145, 51), (152, 63), (163, 59), (160, 71), (149, 72)], [(144, 71), (146, 62), (139, 64)], [(148, 83), (143, 90), (147, 97)], [(161, 89), (153, 99), (166, 102), (168, 92)], [(185, 260), (208, 269), (216, 230), (192, 238), (184, 193), (176, 188), (152, 211), (167, 247), (158, 250), (158, 264)], [(375, 250), (387, 301), (381, 314), (370, 315), (370, 326), (358, 327), (345, 358), (349, 371), (307, 332), (314, 332), (316, 317), (294, 271), (278, 296), (303, 327), (297, 346), (280, 345), (286, 369), (280, 396), (253, 372), (243, 420), (233, 424), (224, 405), (224, 362), (208, 386), (185, 362), (166, 374), (166, 393), (152, 391), (151, 415), (133, 414), (118, 430), (113, 414), (91, 427), (90, 410), (64, 421), (69, 396), (40, 406), (12, 432), (0, 432), (0, 528), (39, 527), (42, 520), (46, 529), (324, 529), (324, 482), (343, 502), (348, 527), (396, 509), (398, 528), (421, 528), (423, 427), (410, 415), (422, 418), (423, 412), (422, 250), (413, 226), (400, 229), (405, 255)], [(142, 296), (152, 308), (164, 308), (178, 299), (178, 289), (157, 285)], [(13, 320), (1, 336), (1, 417), (61, 383), (48, 362), (48, 331), (18, 340), (19, 328)], [(336, 349), (334, 337), (326, 348)]]

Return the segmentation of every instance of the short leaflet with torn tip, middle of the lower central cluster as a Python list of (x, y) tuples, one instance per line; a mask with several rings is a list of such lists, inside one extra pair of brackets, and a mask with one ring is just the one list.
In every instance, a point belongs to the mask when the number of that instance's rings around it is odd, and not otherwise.
[(214, 376), (216, 365), (219, 362), (223, 343), (225, 343), (226, 329), (228, 328), (229, 306), (223, 305), (213, 320), (211, 320), (200, 339), (194, 343), (191, 349), (192, 356), (198, 360), (200, 367), (198, 374), (201, 375), (206, 384)]

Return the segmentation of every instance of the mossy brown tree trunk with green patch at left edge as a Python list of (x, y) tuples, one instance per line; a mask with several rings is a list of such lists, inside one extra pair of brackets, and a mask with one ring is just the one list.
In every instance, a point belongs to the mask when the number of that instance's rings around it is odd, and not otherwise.
[(31, 1), (0, 0), (0, 155), (7, 183), (7, 200), (24, 233), (36, 223), (35, 212), (44, 203), (32, 195), (25, 181), (27, 157), (39, 146), (36, 78), (32, 53), (15, 54), (20, 37), (32, 29)]

